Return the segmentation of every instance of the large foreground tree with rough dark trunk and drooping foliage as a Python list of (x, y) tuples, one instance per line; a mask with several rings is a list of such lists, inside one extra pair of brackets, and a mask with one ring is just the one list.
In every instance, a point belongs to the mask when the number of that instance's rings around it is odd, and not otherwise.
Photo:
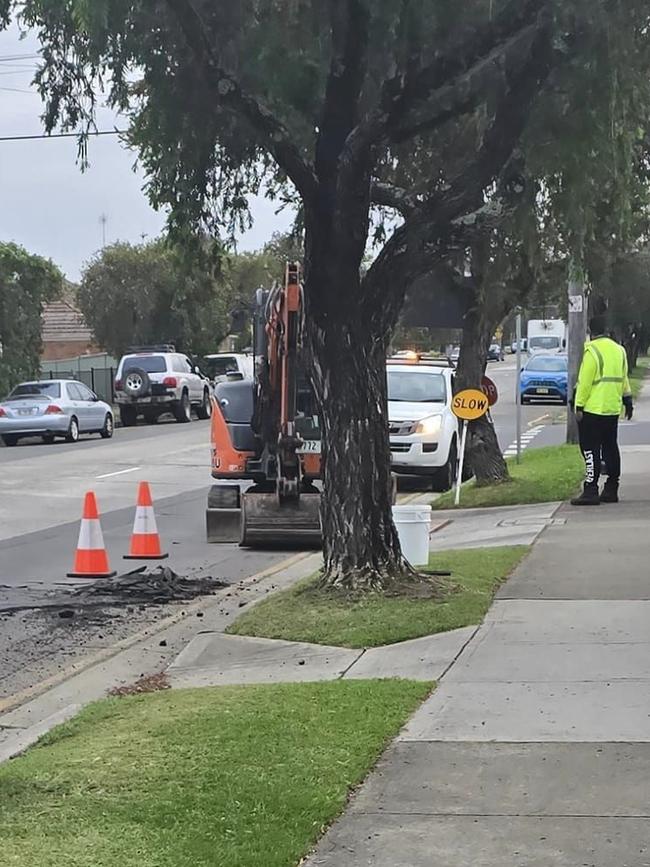
[[(408, 572), (391, 520), (384, 369), (406, 285), (499, 212), (495, 184), (504, 200), (516, 193), (513, 154), (552, 70), (612, 26), (645, 38), (620, 5), (16, 4), (44, 46), (48, 129), (91, 127), (95, 88), (107, 82), (110, 102), (130, 112), (151, 200), (169, 208), (172, 233), (233, 232), (263, 180), (299, 202), (330, 586), (383, 587)], [(391, 183), (386, 168), (404, 149), (469, 116), (481, 118), (480, 135), (451, 171), (430, 165), (423, 194)], [(364, 271), (373, 205), (396, 208), (403, 222)]]

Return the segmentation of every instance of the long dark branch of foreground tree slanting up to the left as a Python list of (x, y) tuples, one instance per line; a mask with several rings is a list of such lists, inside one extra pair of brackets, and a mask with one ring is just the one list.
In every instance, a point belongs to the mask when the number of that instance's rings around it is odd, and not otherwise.
[(178, 19), (187, 44), (219, 103), (252, 127), (257, 138), (294, 183), (303, 200), (315, 200), (318, 182), (311, 165), (291, 140), (284, 124), (260, 100), (245, 93), (234, 76), (220, 67), (203, 20), (192, 0), (166, 2)]

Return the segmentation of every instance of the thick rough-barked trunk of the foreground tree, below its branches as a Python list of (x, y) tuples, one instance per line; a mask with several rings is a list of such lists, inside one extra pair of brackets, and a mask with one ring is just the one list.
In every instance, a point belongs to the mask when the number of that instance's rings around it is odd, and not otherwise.
[[(334, 224), (335, 225), (335, 224)], [(308, 213), (305, 332), (323, 431), (321, 586), (385, 591), (415, 577), (392, 518), (386, 351), (399, 305), (369, 312), (360, 262), (367, 226), (344, 239)]]

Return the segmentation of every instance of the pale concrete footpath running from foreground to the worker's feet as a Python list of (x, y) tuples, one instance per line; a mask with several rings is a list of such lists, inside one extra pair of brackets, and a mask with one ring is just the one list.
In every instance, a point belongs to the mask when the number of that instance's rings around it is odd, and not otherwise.
[(650, 446), (563, 506), (305, 867), (650, 865)]

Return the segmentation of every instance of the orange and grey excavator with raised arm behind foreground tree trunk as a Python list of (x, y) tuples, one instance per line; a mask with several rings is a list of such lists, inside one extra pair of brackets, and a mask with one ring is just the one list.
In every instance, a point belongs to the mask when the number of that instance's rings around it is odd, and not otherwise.
[[(255, 375), (215, 387), (209, 542), (247, 547), (320, 545), (321, 430), (302, 349), (298, 265), (284, 285), (258, 289), (253, 319)], [(244, 491), (241, 482), (249, 482)]]

